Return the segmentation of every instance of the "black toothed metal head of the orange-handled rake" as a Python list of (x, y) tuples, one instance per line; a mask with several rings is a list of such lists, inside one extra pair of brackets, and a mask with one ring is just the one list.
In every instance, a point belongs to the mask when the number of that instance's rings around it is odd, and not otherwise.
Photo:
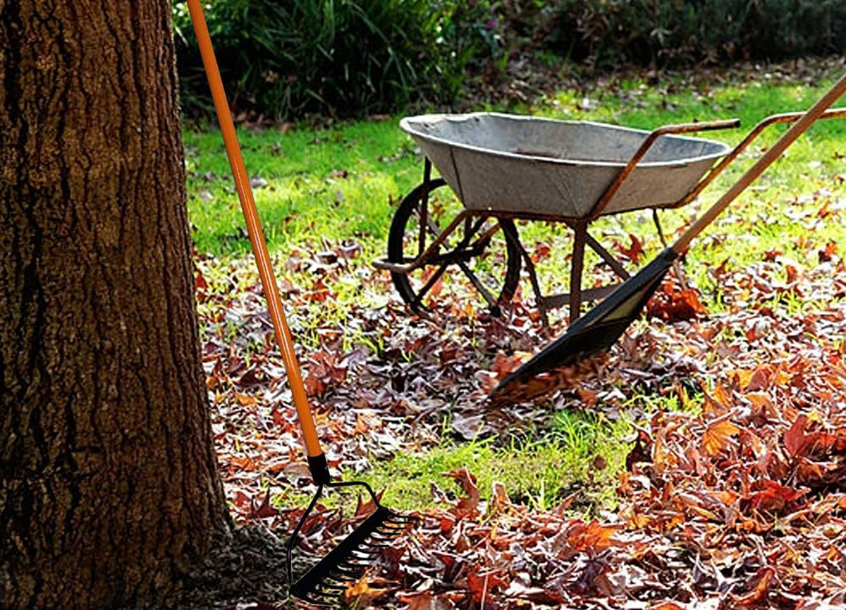
[[(330, 487), (365, 486), (373, 503), (376, 504), (376, 511), (365, 519), (364, 523), (355, 528), (349, 536), (344, 538), (337, 547), (333, 548), (326, 557), (312, 566), (302, 578), (291, 585), (291, 595), (317, 606), (337, 604), (349, 585), (364, 576), (366, 570), (382, 552), (382, 549), (390, 547), (395, 538), (401, 536), (408, 530), (409, 525), (415, 523), (414, 517), (395, 513), (393, 510), (382, 506), (376, 499), (376, 494), (373, 493), (371, 486), (363, 481), (327, 483), (326, 485)], [(289, 583), (293, 582), (291, 556), (297, 534), (311, 509), (314, 508), (317, 498), (321, 496), (322, 489), (322, 485), (318, 486), (309, 508), (299, 519), (299, 524), (288, 540)]]

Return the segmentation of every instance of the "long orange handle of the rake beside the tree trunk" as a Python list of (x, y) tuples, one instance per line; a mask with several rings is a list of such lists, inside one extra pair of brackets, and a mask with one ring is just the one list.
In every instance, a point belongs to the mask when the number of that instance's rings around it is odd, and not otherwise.
[[(226, 101), (226, 93), (223, 91), (223, 83), (220, 79), (220, 71), (217, 69), (214, 49), (211, 48), (211, 37), (206, 26), (206, 18), (203, 16), (200, 0), (188, 0), (188, 9), (200, 46), (203, 66), (206, 68), (206, 76), (211, 88), (211, 99), (214, 101), (214, 107), (217, 111), (217, 121), (220, 124), (223, 144), (226, 146), (226, 154), (229, 157), (229, 166), (232, 168), (232, 176), (235, 179), (235, 189), (238, 190), (238, 199), (241, 201), (241, 209), (244, 211), (247, 233), (250, 234), (250, 244), (253, 246), (253, 254), (255, 254), (255, 261), (259, 267), (259, 277), (261, 278), (261, 286), (264, 288), (267, 308), (270, 310), (279, 349), (282, 350), (282, 359), (285, 362), (285, 371), (288, 372), (291, 393), (294, 394), (294, 406), (297, 409), (299, 427), (303, 431), (305, 450), (310, 458), (316, 458), (321, 456), (323, 451), (320, 442), (317, 440), (317, 431), (309, 409), (308, 398), (305, 397), (305, 386), (303, 385), (303, 377), (299, 372), (297, 358), (294, 355), (291, 331), (288, 329), (288, 322), (285, 321), (282, 300), (279, 298), (276, 278), (273, 276), (270, 256), (267, 254), (267, 245), (261, 231), (259, 215), (255, 210), (250, 179), (247, 177), (246, 168), (244, 168), (244, 158), (241, 157), (238, 136), (235, 135), (235, 126), (229, 114), (229, 104)], [(311, 463), (312, 460), (309, 461)]]

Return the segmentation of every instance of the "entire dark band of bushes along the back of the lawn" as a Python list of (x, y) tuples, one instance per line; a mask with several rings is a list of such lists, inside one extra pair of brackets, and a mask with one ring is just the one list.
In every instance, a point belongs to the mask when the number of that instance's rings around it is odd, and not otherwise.
[[(173, 16), (183, 107), (207, 113), (184, 1)], [(846, 0), (207, 0), (206, 20), (233, 107), (285, 120), (444, 107), (477, 76), (495, 91), (510, 58), (684, 68), (846, 52)]]

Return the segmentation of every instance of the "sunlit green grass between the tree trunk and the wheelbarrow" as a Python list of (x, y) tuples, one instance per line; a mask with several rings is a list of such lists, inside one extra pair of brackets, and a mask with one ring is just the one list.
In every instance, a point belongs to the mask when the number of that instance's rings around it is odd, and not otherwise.
[[(190, 218), (197, 250), (216, 256), (250, 248), (217, 130), (188, 131)], [(270, 250), (358, 239), (372, 254), (382, 247), (394, 199), (418, 180), (413, 147), (397, 121), (336, 129), (240, 129), (239, 140)]]

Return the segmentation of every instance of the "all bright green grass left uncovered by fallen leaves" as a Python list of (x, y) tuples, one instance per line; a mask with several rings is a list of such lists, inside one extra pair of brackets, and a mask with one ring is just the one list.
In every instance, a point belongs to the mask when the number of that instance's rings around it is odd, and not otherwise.
[[(527, 107), (525, 112), (644, 129), (695, 119), (738, 117), (743, 123), (741, 129), (710, 135), (735, 144), (766, 115), (810, 106), (829, 84), (823, 82), (807, 88), (750, 80), (742, 84), (715, 84), (708, 91), (677, 85), (675, 91), (662, 95), (644, 82), (632, 80), (623, 83), (617, 92), (592, 92), (590, 110), (580, 109), (582, 96), (561, 92)], [(716, 201), (750, 166), (762, 147), (771, 145), (784, 129), (777, 126), (756, 140), (750, 151), (703, 193), (699, 206), (704, 208)], [(702, 291), (708, 310), (717, 313), (727, 307), (720, 285), (708, 274), (709, 268), (718, 267), (723, 261), (728, 260), (730, 271), (760, 262), (767, 250), (779, 250), (800, 264), (816, 265), (816, 260), (808, 259), (808, 252), (815, 251), (814, 248), (796, 243), (795, 235), (799, 233), (815, 247), (822, 248), (829, 240), (846, 245), (846, 228), (837, 216), (830, 217), (828, 222), (816, 220), (816, 213), (825, 201), (838, 198), (838, 175), (844, 173), (842, 157), (846, 155), (844, 136), (846, 120), (816, 124), (788, 150), (786, 159), (770, 168), (753, 189), (741, 195), (694, 242), (685, 267), (689, 279)], [(355, 239), (363, 249), (356, 260), (360, 265), (368, 265), (374, 257), (384, 255), (394, 209), (390, 201), (396, 205), (421, 179), (422, 163), (408, 136), (398, 129), (398, 118), (339, 124), (319, 130), (241, 129), (239, 138), (250, 175), (266, 181), (265, 186), (255, 190), (256, 204), (270, 250), (280, 261), (287, 259), (298, 246), (321, 250), (324, 243)], [(186, 131), (184, 140), (190, 220), (197, 249), (222, 261), (243, 256), (249, 250), (249, 242), (242, 229), (243, 218), (219, 133)], [(835, 193), (823, 193), (815, 198), (815, 193), (823, 189)], [(665, 232), (673, 234), (694, 208), (662, 212)], [(561, 225), (521, 223), (519, 228), (530, 251), (541, 242), (552, 244), (553, 251), (569, 251), (569, 235)], [(645, 261), (662, 247), (646, 212), (602, 218), (592, 225), (591, 232), (597, 237), (604, 236), (601, 241), (610, 237), (623, 243), (627, 243), (629, 233), (638, 235), (646, 247)], [(723, 234), (727, 239), (711, 239), (712, 234)], [(587, 268), (596, 262), (596, 257), (589, 257)], [(566, 284), (568, 267), (560, 258), (542, 261), (539, 273), (545, 288)], [(228, 281), (226, 265), (220, 268), (221, 277), (206, 279), (216, 283)], [(314, 279), (307, 274), (288, 272), (282, 265), (277, 265), (277, 273), (295, 285), (307, 286)], [(317, 303), (298, 312), (301, 323), (308, 325), (298, 335), (298, 341), (316, 344), (317, 327), (343, 321), (345, 307), (353, 302), (367, 305), (368, 299), (377, 299), (377, 295), (366, 291), (362, 294), (359, 286), (349, 283), (349, 278), (344, 282), (332, 284), (338, 298), (331, 306)], [(530, 294), (525, 280), (523, 290), (524, 294)], [(799, 300), (791, 294), (774, 297), (774, 303), (795, 314), (814, 306), (812, 298)], [(227, 332), (236, 330), (228, 328)], [(354, 343), (365, 339), (350, 336), (346, 340)], [(682, 407), (674, 397), (636, 396), (633, 401), (645, 410)], [(698, 399), (693, 397), (691, 404), (695, 408)], [(527, 432), (519, 440), (454, 442), (445, 436), (440, 445), (426, 452), (401, 453), (390, 461), (376, 462), (367, 479), (376, 488), (387, 488), (388, 505), (400, 509), (421, 508), (433, 503), (432, 481), (448, 494), (457, 496), (458, 487), (443, 473), (467, 466), (478, 477), (483, 498), (489, 497), (493, 481), (500, 481), (514, 501), (536, 508), (555, 508), (564, 497), (582, 489), (573, 508), (587, 514), (613, 506), (614, 481), (624, 467), (629, 449), (621, 439), (629, 430), (630, 423), (626, 420), (611, 422), (595, 416), (560, 414), (549, 430)], [(605, 461), (606, 468), (591, 467), (597, 458)], [(292, 495), (277, 501), (301, 503), (305, 498)]]

